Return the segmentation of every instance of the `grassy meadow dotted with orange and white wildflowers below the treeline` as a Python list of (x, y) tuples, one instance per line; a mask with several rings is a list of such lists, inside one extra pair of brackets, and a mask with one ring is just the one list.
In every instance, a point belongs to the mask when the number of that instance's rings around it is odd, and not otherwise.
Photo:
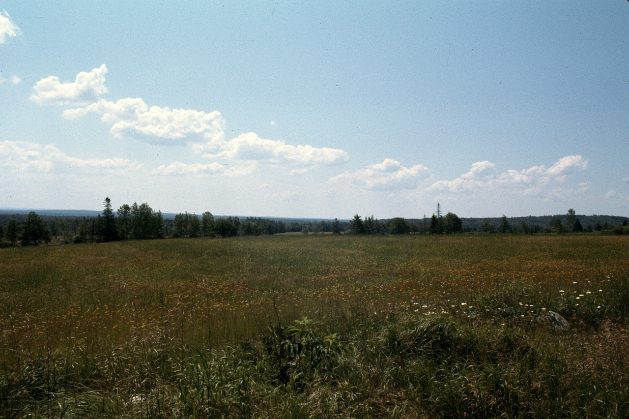
[(624, 235), (0, 249), (0, 417), (625, 418), (628, 261)]

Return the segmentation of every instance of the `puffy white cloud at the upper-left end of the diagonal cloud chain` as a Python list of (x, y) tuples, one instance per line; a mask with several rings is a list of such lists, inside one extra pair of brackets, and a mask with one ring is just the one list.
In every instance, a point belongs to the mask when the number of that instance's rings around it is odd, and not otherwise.
[(59, 77), (51, 75), (38, 81), (30, 99), (38, 104), (88, 104), (97, 101), (101, 94), (106, 93), (106, 65), (101, 65), (91, 72), (80, 72), (74, 82), (62, 83)]

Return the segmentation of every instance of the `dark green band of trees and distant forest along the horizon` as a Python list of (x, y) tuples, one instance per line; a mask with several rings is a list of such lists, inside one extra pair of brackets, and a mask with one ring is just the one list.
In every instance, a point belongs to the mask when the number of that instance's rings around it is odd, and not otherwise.
[(285, 233), (335, 234), (448, 234), (448, 233), (629, 233), (621, 216), (565, 214), (528, 217), (459, 218), (442, 214), (440, 204), (430, 217), (378, 220), (354, 215), (350, 220), (213, 216), (180, 213), (162, 215), (147, 203), (124, 204), (114, 211), (105, 198), (98, 211), (0, 210), (0, 245), (39, 243), (99, 243), (164, 237), (233, 237)]

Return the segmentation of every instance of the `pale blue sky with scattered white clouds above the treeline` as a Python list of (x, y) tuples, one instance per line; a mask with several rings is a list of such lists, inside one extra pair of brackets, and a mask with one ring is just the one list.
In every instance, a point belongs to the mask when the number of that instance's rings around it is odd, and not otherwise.
[(0, 0), (0, 208), (628, 216), (627, 1)]

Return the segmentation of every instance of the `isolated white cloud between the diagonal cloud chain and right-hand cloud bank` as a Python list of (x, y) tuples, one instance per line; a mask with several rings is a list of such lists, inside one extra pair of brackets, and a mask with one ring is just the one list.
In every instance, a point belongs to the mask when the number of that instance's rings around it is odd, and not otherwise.
[(351, 182), (369, 190), (415, 189), (418, 181), (430, 176), (423, 165), (404, 167), (400, 162), (384, 159), (356, 172), (345, 172), (330, 179), (330, 182)]

